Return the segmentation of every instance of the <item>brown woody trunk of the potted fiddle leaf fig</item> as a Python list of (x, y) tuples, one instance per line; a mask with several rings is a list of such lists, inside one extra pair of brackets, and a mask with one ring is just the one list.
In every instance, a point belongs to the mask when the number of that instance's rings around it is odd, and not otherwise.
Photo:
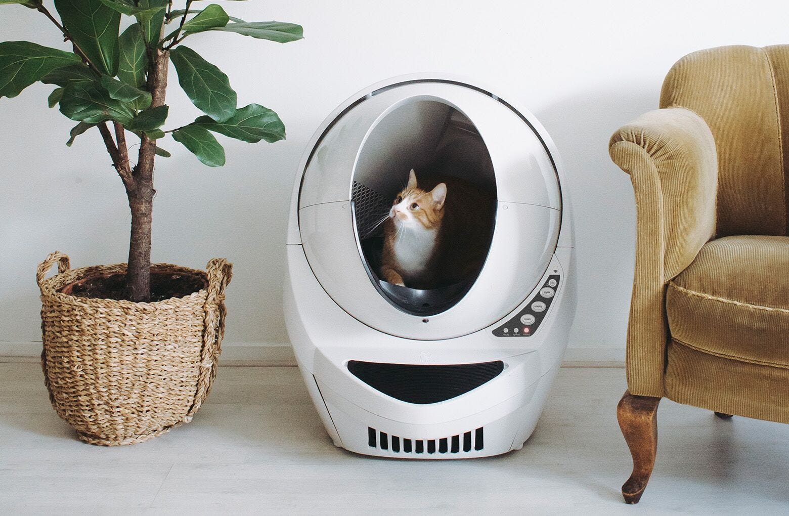
[[(148, 91), (151, 107), (164, 104), (167, 88), (169, 52), (151, 49), (151, 68), (148, 72)], [(156, 141), (143, 135), (140, 154), (133, 170), (133, 185), (127, 187), (129, 208), (132, 211), (132, 234), (129, 240), (129, 268), (126, 271), (126, 290), (129, 301), (148, 301), (151, 298), (151, 214), (153, 211), (153, 163)]]

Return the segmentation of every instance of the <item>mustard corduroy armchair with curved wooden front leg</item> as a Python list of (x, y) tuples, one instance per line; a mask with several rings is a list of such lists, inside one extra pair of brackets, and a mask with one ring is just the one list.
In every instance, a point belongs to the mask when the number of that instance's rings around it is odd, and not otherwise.
[(637, 211), (617, 414), (638, 503), (660, 398), (789, 423), (789, 45), (680, 59), (609, 152)]

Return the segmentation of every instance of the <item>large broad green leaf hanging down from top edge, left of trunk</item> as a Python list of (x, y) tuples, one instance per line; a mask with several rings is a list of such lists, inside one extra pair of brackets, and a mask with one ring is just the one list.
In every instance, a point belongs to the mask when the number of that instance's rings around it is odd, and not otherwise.
[(118, 73), (118, 27), (121, 13), (102, 0), (54, 0), (60, 19), (74, 43), (103, 73)]

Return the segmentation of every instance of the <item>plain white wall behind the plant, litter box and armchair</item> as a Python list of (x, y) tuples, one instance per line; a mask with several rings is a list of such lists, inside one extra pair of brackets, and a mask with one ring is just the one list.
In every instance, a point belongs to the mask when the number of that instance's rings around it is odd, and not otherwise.
[[(577, 215), (580, 299), (570, 346), (576, 357), (594, 357), (600, 348), (619, 353), (633, 274), (634, 201), (628, 178), (608, 159), (608, 137), (656, 107), (661, 80), (682, 55), (789, 43), (786, 2), (220, 3), (245, 20), (300, 23), (306, 35), (286, 45), (220, 32), (185, 42), (230, 76), (239, 106), (271, 107), (288, 133), (286, 141), (255, 145), (219, 136), (228, 155), (219, 169), (202, 166), (169, 138), (161, 143), (173, 157), (159, 159), (156, 169), (153, 259), (204, 267), (225, 256), (234, 263), (228, 343), (287, 340), (286, 212), (312, 131), (367, 84), (439, 71), (509, 92), (552, 134)], [(0, 13), (2, 39), (65, 48), (39, 13), (21, 6), (0, 6)], [(67, 252), (75, 267), (126, 258), (121, 182), (94, 130), (65, 147), (73, 122), (47, 109), (51, 89), (36, 84), (0, 99), (0, 341), (40, 340), (34, 275), (47, 252)], [(168, 128), (198, 115), (177, 84), (167, 103)]]

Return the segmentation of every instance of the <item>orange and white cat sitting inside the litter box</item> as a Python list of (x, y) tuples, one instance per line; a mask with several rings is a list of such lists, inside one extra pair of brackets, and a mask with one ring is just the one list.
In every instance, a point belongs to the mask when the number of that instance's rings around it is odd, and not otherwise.
[(488, 254), (494, 216), (487, 191), (449, 177), (417, 184), (411, 170), (383, 229), (383, 279), (414, 289), (468, 279)]

